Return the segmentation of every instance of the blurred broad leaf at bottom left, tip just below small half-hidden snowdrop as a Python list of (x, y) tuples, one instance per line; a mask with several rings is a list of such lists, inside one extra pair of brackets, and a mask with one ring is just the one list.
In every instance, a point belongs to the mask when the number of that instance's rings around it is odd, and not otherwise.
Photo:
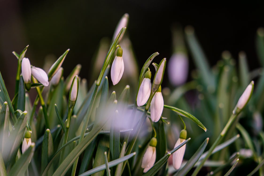
[(8, 173), (8, 176), (24, 175), (30, 163), (31, 158), (34, 155), (34, 151), (35, 151), (35, 144), (32, 143), (32, 145), (29, 146), (29, 148), (25, 151), (25, 153), (21, 155), (19, 160), (13, 165), (10, 172)]

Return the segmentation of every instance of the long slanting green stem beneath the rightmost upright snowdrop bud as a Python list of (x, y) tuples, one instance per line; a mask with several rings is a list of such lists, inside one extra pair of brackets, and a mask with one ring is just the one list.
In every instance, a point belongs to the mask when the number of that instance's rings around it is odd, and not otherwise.
[(198, 174), (198, 172), (200, 171), (200, 169), (202, 168), (202, 166), (204, 165), (205, 161), (209, 158), (209, 156), (212, 154), (213, 150), (215, 149), (215, 147), (219, 144), (219, 142), (224, 138), (224, 136), (227, 134), (228, 129), (232, 126), (234, 120), (237, 118), (237, 114), (232, 114), (231, 117), (229, 118), (227, 124), (225, 125), (224, 129), (222, 130), (222, 132), (219, 134), (219, 136), (217, 137), (217, 139), (215, 140), (214, 144), (211, 146), (211, 148), (208, 150), (207, 155), (204, 157), (204, 159), (200, 162), (200, 164), (196, 167), (196, 169), (194, 170), (194, 172), (192, 173), (191, 176), (195, 176)]

